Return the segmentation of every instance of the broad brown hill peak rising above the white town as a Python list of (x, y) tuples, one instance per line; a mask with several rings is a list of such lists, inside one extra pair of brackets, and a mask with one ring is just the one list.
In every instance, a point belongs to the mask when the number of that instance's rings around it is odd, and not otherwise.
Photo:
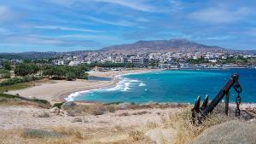
[(223, 50), (218, 46), (207, 46), (201, 43), (195, 43), (185, 39), (138, 41), (130, 44), (113, 45), (103, 48), (102, 51), (138, 51), (138, 50), (172, 50), (172, 49), (215, 49)]

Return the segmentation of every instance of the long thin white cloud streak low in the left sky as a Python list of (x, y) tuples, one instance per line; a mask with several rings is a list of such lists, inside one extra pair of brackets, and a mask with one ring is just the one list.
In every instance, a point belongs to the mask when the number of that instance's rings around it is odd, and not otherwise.
[(97, 30), (90, 30), (90, 29), (84, 29), (84, 28), (71, 28), (71, 27), (65, 27), (65, 26), (34, 26), (34, 28), (60, 30), (60, 31), (74, 31), (74, 32), (103, 32), (103, 31), (97, 31)]

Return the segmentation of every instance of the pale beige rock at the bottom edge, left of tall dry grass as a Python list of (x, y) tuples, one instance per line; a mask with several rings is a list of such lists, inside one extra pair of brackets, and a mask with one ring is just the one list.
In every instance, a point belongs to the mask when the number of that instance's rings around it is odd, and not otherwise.
[(177, 130), (154, 129), (148, 130), (148, 132), (146, 132), (145, 135), (148, 136), (151, 139), (151, 141), (154, 141), (156, 144), (172, 143), (173, 139), (177, 135)]

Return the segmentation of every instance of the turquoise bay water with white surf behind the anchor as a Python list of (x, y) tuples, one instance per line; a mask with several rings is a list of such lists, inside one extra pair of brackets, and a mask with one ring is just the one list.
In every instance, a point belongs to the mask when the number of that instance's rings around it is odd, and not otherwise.
[[(232, 73), (239, 73), (243, 102), (256, 102), (256, 69), (177, 70), (125, 75), (119, 84), (108, 89), (76, 93), (75, 101), (102, 102), (194, 102), (197, 95), (218, 94)], [(230, 101), (235, 101), (235, 91)]]

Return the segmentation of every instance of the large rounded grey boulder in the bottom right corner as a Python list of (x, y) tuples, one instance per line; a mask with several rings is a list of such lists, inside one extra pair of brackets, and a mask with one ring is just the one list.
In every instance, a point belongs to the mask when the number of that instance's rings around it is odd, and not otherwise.
[(205, 130), (192, 144), (253, 144), (256, 141), (256, 123), (230, 121)]

